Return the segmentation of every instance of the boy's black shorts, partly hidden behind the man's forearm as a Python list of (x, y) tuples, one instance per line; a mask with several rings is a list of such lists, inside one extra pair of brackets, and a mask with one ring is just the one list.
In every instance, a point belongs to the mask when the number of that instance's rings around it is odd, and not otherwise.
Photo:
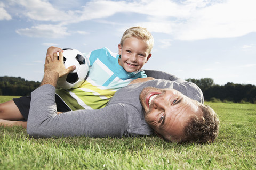
[[(55, 95), (55, 100), (56, 100), (58, 112), (71, 111), (71, 109), (64, 103), (64, 101), (58, 95)], [(31, 96), (22, 96), (20, 98), (14, 98), (13, 101), (15, 105), (18, 107), (18, 109), (20, 110), (20, 113), (22, 114), (22, 116), (24, 117), (22, 121), (27, 121)]]

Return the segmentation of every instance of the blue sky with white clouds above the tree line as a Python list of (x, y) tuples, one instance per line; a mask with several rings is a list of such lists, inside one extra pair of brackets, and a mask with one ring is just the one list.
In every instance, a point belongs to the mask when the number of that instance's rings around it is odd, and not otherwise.
[(143, 69), (256, 85), (255, 0), (0, 0), (0, 76), (41, 81), (50, 46), (118, 52), (123, 32), (154, 37)]

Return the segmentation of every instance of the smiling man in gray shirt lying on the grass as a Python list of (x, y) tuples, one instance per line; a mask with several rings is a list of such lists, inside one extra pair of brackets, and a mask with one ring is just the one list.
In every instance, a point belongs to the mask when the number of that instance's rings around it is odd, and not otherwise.
[(148, 71), (148, 75), (162, 79), (133, 81), (118, 90), (105, 108), (57, 114), (54, 95), (58, 78), (74, 69), (65, 69), (62, 53), (59, 60), (55, 54), (53, 60), (46, 56), (41, 87), (31, 93), (29, 135), (123, 137), (155, 132), (164, 140), (176, 142), (213, 142), (217, 137), (219, 120), (202, 104), (202, 91), (163, 72), (155, 75)]

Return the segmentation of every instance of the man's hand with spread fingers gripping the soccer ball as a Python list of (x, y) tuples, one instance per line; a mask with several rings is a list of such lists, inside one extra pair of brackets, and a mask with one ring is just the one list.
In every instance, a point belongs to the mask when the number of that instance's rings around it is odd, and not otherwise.
[(50, 84), (54, 87), (57, 85), (59, 77), (70, 73), (75, 70), (76, 66), (70, 66), (67, 69), (63, 64), (63, 54), (59, 52), (59, 60), (57, 53), (53, 54), (53, 60), (50, 55), (46, 56), (44, 65), (44, 78), (42, 80), (41, 86), (44, 84)]

